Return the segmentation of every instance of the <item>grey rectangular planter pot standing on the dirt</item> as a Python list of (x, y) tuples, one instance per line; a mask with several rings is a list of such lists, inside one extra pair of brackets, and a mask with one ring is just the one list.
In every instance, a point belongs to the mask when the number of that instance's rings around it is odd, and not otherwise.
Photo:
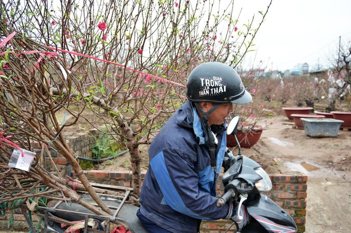
[(305, 134), (310, 137), (336, 137), (343, 121), (330, 118), (301, 118)]

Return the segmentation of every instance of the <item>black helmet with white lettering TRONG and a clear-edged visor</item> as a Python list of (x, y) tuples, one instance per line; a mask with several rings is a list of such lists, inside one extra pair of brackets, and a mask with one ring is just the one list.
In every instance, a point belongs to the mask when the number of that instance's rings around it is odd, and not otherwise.
[(197, 66), (189, 75), (187, 97), (192, 102), (247, 104), (252, 100), (238, 73), (219, 62)]

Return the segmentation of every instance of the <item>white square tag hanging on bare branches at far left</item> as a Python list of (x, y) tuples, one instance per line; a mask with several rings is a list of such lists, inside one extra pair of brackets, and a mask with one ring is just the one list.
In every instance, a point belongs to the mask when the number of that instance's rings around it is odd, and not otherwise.
[(35, 156), (35, 152), (25, 149), (22, 149), (22, 152), (23, 156), (21, 150), (14, 149), (9, 161), (9, 167), (15, 167), (24, 171), (29, 171), (29, 168), (31, 167)]

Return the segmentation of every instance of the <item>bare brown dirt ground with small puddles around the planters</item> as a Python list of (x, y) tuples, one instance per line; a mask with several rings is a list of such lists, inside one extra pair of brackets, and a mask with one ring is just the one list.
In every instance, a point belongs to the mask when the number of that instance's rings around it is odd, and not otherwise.
[[(278, 116), (264, 130), (259, 142), (244, 155), (270, 173), (300, 172), (308, 176), (306, 233), (350, 232), (351, 225), (351, 130), (339, 130), (336, 138), (310, 138), (293, 122)], [(234, 154), (237, 150), (234, 150)], [(147, 155), (147, 148), (142, 148)], [(128, 171), (128, 154), (100, 165), (100, 169)], [(148, 158), (143, 156), (142, 170)]]

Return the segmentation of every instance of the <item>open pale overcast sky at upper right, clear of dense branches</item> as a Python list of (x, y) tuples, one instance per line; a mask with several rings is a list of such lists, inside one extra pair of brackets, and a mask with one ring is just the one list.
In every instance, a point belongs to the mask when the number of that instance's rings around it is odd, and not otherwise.
[[(263, 11), (269, 0), (236, 0), (244, 14)], [(254, 43), (266, 69), (293, 69), (307, 62), (327, 67), (327, 58), (351, 39), (351, 0), (273, 0)]]

